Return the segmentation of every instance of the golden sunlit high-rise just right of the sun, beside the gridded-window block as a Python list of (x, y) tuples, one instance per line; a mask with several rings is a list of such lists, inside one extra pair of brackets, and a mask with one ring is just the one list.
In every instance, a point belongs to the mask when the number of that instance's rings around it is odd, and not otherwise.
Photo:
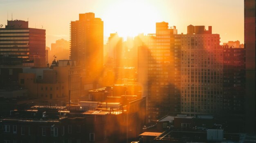
[[(146, 103), (147, 122), (155, 122), (166, 114), (180, 113), (180, 79), (179, 59), (174, 58), (174, 34), (177, 29), (168, 29), (168, 23), (156, 23), (156, 34), (149, 34), (148, 50), (141, 47), (141, 51), (147, 52), (148, 62), (143, 66), (147, 68), (147, 84), (143, 89), (147, 90)], [(144, 49), (144, 50), (143, 50)], [(145, 54), (142, 54), (145, 57)], [(139, 60), (140, 61), (140, 60)], [(142, 60), (144, 61), (144, 60)], [(141, 66), (141, 63), (138, 64)], [(139, 69), (139, 71), (142, 71)], [(140, 75), (141, 73), (139, 73)], [(139, 77), (139, 81), (141, 81)], [(146, 87), (145, 87), (146, 86)]]

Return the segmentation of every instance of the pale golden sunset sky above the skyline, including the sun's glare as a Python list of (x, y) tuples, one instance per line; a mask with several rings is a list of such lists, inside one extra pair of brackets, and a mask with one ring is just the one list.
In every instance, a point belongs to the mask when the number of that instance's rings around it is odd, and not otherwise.
[(168, 22), (178, 33), (187, 26), (212, 26), (221, 44), (244, 43), (243, 0), (0, 0), (0, 24), (29, 20), (29, 27), (46, 29), (46, 46), (61, 38), (69, 40), (70, 22), (79, 13), (93, 12), (104, 22), (104, 40), (110, 33), (127, 36), (155, 33), (155, 22)]

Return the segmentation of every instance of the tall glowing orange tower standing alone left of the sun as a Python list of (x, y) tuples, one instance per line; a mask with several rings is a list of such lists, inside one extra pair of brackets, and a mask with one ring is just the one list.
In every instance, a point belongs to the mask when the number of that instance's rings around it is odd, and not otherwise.
[(76, 60), (86, 77), (98, 77), (103, 68), (103, 21), (94, 13), (79, 14), (70, 24), (70, 59)]

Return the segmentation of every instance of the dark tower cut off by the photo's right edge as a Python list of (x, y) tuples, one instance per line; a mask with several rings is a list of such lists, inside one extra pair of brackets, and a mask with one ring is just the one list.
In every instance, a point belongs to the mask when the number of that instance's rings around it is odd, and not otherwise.
[(246, 97), (245, 97), (245, 128), (247, 132), (256, 131), (256, 1), (245, 0), (245, 69), (246, 69)]

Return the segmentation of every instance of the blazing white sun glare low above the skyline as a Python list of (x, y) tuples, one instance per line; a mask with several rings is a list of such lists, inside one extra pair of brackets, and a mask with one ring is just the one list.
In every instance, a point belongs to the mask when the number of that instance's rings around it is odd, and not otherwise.
[(159, 18), (157, 8), (150, 2), (123, 0), (109, 4), (103, 15), (104, 31), (117, 32), (121, 37), (134, 37), (138, 33), (152, 33)]

